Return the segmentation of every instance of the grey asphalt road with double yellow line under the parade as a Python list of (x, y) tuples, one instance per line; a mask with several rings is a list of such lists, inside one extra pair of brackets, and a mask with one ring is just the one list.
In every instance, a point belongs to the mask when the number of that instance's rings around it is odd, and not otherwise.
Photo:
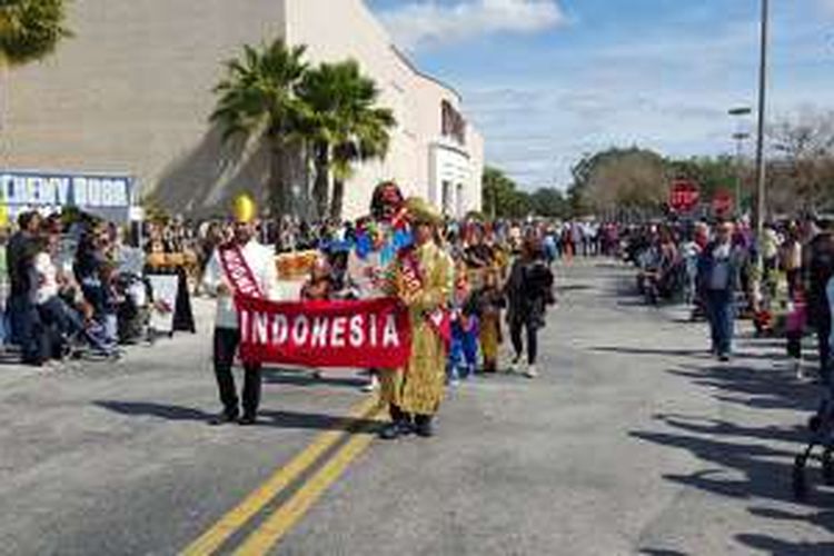
[(270, 371), (260, 426), (207, 426), (207, 305), (115, 365), (0, 367), (0, 554), (834, 554), (834, 489), (792, 499), (817, 391), (778, 342), (718, 365), (627, 268), (558, 272), (542, 377), (465, 383), (429, 440), (375, 440), (350, 373)]

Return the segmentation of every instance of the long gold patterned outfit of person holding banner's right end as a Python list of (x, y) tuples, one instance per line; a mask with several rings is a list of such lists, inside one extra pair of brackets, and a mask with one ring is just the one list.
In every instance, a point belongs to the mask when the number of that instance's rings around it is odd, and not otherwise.
[(411, 357), (405, 368), (381, 374), (381, 399), (389, 404), (393, 414), (399, 410), (433, 416), (444, 397), (447, 350), (427, 315), (448, 304), (454, 267), (451, 258), (434, 242), (416, 247), (414, 256), (421, 284), (416, 287), (405, 284), (401, 259), (394, 262), (393, 269), (394, 287), (411, 317)]

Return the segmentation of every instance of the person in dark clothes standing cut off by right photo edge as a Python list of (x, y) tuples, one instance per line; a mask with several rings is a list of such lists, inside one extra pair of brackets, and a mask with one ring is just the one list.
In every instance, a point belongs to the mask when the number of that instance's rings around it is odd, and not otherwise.
[(808, 316), (816, 329), (820, 349), (820, 377), (828, 384), (831, 379), (831, 306), (826, 295), (828, 280), (834, 276), (834, 235), (831, 221), (817, 224), (820, 232), (805, 250), (805, 278), (808, 290)]

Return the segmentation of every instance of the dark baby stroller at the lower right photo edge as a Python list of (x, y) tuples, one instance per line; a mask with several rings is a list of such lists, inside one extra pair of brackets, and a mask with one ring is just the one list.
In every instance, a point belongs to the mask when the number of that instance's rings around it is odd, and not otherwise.
[(834, 381), (825, 386), (825, 395), (816, 414), (808, 419), (811, 439), (805, 450), (796, 456), (793, 469), (794, 497), (804, 500), (808, 494), (806, 468), (814, 449), (822, 448), (820, 463), (823, 480), (834, 486)]

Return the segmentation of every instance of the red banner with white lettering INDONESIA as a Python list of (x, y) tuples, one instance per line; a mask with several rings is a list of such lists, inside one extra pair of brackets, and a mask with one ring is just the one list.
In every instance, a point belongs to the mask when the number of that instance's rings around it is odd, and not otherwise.
[(305, 367), (399, 368), (411, 353), (408, 310), (395, 298), (274, 302), (236, 298), (240, 358)]

